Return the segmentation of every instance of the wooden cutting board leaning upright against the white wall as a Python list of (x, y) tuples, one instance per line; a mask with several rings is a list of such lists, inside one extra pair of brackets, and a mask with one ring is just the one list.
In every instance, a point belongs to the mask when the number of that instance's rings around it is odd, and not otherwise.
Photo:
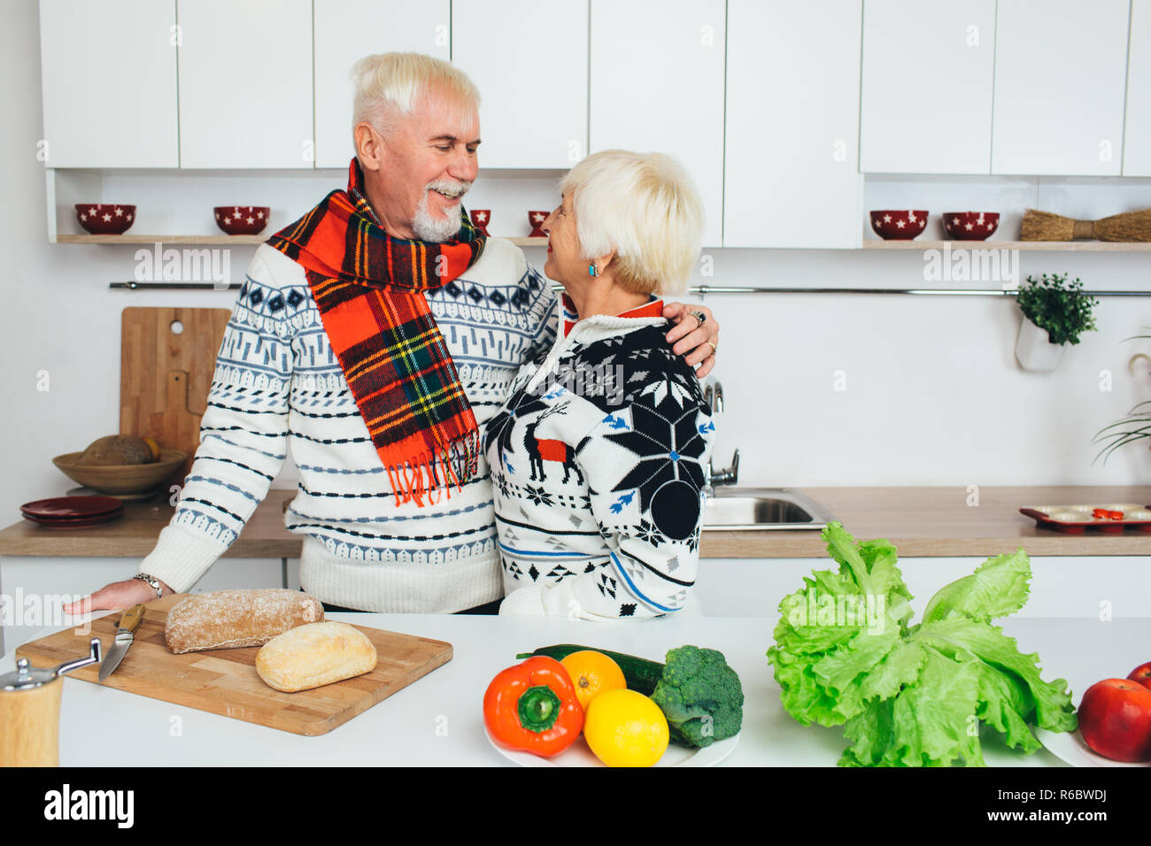
[[(120, 317), (120, 434), (153, 437), (182, 449), (192, 467), (200, 444), (227, 308), (128, 307)], [(178, 323), (180, 333), (173, 330)]]

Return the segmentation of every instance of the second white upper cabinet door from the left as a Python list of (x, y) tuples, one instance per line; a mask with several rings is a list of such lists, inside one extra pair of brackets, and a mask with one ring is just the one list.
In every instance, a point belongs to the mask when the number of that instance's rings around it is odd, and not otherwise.
[(178, 23), (181, 167), (313, 167), (311, 0), (180, 0)]

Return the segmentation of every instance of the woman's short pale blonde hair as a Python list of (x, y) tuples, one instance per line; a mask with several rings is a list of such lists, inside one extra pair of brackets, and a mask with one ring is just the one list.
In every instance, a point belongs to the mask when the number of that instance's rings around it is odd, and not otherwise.
[(604, 150), (567, 172), (582, 258), (612, 250), (616, 282), (632, 294), (680, 294), (703, 242), (703, 203), (663, 153)]

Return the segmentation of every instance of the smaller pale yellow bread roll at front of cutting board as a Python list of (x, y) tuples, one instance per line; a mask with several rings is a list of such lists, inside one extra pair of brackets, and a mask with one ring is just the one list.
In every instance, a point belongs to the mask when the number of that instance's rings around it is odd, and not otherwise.
[(273, 638), (256, 654), (256, 672), (285, 693), (330, 685), (375, 669), (375, 647), (358, 628), (328, 620)]

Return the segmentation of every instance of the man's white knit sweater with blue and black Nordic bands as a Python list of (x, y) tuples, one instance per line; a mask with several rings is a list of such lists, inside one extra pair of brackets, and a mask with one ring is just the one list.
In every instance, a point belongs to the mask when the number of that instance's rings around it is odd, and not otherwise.
[[(491, 238), (459, 279), (426, 296), (482, 428), (520, 365), (551, 346), (555, 294), (523, 251)], [(304, 584), (318, 599), (375, 611), (450, 612), (502, 595), (483, 458), (463, 490), (452, 486), (450, 496), (424, 508), (397, 506), (303, 268), (261, 245), (224, 333), (176, 512), (140, 570), (189, 589), (236, 540), (289, 449), (299, 493), (285, 525), (313, 539), (305, 551), (322, 549), (344, 565)], [(428, 580), (442, 587), (412, 596), (412, 574), (422, 567), (434, 569)]]

